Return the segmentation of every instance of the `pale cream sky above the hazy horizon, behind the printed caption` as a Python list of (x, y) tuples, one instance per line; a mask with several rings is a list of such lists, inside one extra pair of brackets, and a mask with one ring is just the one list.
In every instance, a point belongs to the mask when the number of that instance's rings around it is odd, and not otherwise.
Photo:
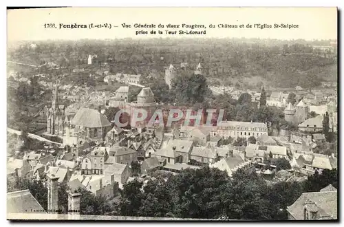
[[(54, 23), (56, 28), (44, 28)], [(109, 28), (62, 28), (63, 25), (111, 24)], [(122, 23), (131, 28), (122, 28)], [(165, 25), (164, 28), (133, 28), (135, 23)], [(165, 34), (167, 24), (205, 25), (206, 34)], [(274, 24), (293, 24), (299, 28), (274, 28)], [(209, 25), (215, 28), (209, 28)], [(244, 28), (218, 28), (219, 24)], [(252, 28), (246, 28), (246, 25)], [(254, 24), (272, 28), (253, 28)], [(114, 28), (118, 26), (117, 28)], [(139, 34), (158, 30), (163, 34)], [(8, 41), (47, 39), (147, 39), (147, 38), (260, 38), (260, 39), (337, 39), (337, 8), (47, 8), (8, 10)]]

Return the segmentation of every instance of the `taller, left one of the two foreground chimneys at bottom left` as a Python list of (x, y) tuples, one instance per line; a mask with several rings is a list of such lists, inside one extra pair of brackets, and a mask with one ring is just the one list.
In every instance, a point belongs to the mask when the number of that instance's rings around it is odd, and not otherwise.
[(58, 177), (47, 174), (47, 213), (58, 213)]

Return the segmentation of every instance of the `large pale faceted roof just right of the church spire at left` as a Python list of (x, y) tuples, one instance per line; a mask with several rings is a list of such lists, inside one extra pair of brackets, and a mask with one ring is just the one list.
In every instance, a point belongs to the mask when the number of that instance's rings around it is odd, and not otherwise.
[(80, 108), (71, 124), (87, 128), (100, 128), (111, 125), (109, 120), (103, 114), (100, 114), (98, 110), (88, 108)]

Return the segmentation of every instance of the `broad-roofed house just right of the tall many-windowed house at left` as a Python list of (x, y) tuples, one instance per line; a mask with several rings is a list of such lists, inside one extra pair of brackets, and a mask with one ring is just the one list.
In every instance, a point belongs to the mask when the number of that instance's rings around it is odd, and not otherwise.
[[(114, 163), (130, 164), (138, 160), (138, 152), (128, 147), (119, 147), (118, 144), (114, 144), (109, 148), (109, 157), (113, 157), (111, 160), (114, 160)], [(109, 163), (108, 160), (107, 163)]]

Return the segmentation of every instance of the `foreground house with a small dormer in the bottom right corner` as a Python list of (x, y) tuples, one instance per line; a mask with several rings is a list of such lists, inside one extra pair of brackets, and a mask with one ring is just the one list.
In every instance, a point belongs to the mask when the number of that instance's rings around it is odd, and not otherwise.
[(302, 193), (291, 206), (287, 207), (290, 220), (324, 220), (337, 219), (338, 203), (337, 191), (325, 191)]

